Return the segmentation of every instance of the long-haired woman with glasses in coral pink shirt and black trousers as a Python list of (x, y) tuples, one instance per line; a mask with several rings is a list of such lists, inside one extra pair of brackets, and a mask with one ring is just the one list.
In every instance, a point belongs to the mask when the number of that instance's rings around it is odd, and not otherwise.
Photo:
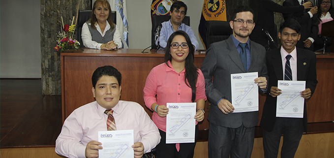
[[(153, 111), (152, 121), (159, 128), (161, 141), (155, 158), (193, 158), (198, 136), (198, 122), (204, 119), (205, 80), (194, 65), (194, 47), (187, 33), (171, 34), (165, 50), (165, 63), (152, 68), (144, 87), (144, 101)], [(166, 144), (167, 103), (196, 102), (194, 143)]]

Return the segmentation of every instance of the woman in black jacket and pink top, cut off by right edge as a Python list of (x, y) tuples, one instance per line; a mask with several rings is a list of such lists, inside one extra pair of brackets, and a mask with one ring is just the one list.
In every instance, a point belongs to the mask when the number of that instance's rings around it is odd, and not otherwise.
[(318, 51), (324, 48), (324, 39), (326, 41), (326, 52), (331, 52), (332, 37), (321, 36), (322, 24), (332, 21), (334, 19), (334, 8), (332, 7), (331, 0), (318, 0), (318, 12), (317, 17), (319, 20), (319, 32), (318, 37), (314, 40), (314, 51)]

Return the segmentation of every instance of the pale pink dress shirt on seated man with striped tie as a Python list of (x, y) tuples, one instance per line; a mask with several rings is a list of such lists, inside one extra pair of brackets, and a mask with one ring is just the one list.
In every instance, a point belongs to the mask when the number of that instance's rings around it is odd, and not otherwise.
[[(96, 101), (75, 109), (61, 128), (56, 140), (56, 153), (68, 158), (85, 158), (87, 143), (98, 141), (97, 132), (107, 130), (105, 110)], [(117, 130), (133, 129), (134, 142), (143, 143), (144, 153), (150, 152), (160, 142), (158, 128), (141, 105), (120, 100), (113, 110)]]

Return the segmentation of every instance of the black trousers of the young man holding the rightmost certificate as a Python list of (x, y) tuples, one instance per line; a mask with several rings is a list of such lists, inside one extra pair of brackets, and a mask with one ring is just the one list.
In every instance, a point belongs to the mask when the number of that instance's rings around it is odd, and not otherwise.
[(276, 118), (273, 131), (263, 130), (265, 158), (277, 158), (283, 132), (281, 158), (294, 158), (304, 131), (303, 118)]

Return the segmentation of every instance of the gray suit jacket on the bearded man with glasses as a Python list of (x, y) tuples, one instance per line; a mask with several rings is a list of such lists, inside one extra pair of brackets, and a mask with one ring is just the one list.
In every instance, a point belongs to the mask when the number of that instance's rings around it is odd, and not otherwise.
[[(247, 72), (258, 72), (259, 77), (267, 77), (266, 50), (260, 44), (250, 41), (251, 61)], [(258, 123), (259, 112), (230, 113), (221, 112), (217, 101), (231, 99), (231, 74), (245, 73), (243, 63), (232, 36), (228, 39), (210, 45), (201, 70), (205, 78), (206, 94), (211, 101), (208, 120), (218, 126), (237, 128), (240, 126), (253, 127)], [(213, 79), (213, 82), (212, 82)]]

